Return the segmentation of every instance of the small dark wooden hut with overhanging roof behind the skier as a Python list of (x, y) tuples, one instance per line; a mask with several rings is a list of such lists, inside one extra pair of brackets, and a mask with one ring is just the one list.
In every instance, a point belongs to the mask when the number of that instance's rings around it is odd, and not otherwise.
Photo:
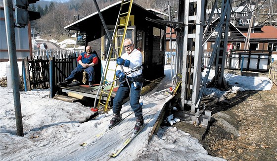
[[(118, 1), (101, 9), (101, 14), (111, 37), (115, 28), (120, 6), (121, 1)], [(128, 11), (128, 8), (124, 8), (123, 6), (123, 10)], [(166, 25), (148, 21), (146, 20), (146, 17), (150, 19), (162, 19), (153, 13), (153, 10), (147, 10), (133, 2), (129, 22), (131, 25), (127, 29), (125, 38), (133, 39), (135, 48), (142, 53), (143, 65), (147, 66), (143, 69), (145, 79), (154, 80), (164, 76)], [(76, 30), (86, 34), (86, 46), (92, 46), (92, 50), (95, 50), (98, 56), (101, 57), (102, 67), (104, 66), (110, 43), (98, 12), (69, 24), (65, 29)], [(124, 28), (119, 28), (117, 34), (122, 34), (123, 32)], [(120, 46), (119, 43), (120, 41), (118, 41), (116, 46)], [(125, 51), (123, 50), (123, 52)], [(112, 57), (116, 56), (112, 55)], [(111, 60), (109, 65), (114, 65), (115, 67), (116, 61)], [(113, 76), (110, 78), (107, 77), (107, 79), (111, 81)]]

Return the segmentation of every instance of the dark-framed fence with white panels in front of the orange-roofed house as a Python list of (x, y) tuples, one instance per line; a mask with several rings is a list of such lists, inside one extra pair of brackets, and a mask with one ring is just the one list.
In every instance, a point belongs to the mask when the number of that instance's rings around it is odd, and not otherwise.
[[(225, 68), (244, 71), (268, 72), (271, 62), (271, 51), (231, 50), (226, 56)], [(208, 66), (211, 53), (205, 53), (203, 63)]]

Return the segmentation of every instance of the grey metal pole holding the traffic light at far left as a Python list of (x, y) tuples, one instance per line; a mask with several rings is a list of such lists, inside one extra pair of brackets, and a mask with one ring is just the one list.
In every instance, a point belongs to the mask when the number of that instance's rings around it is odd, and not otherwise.
[(18, 136), (24, 136), (22, 114), (20, 105), (20, 94), (19, 94), (19, 71), (16, 61), (16, 46), (15, 46), (15, 34), (14, 34), (14, 22), (13, 22), (13, 10), (12, 0), (4, 0), (4, 15), (5, 15), (5, 26), (6, 36), (8, 45), (9, 61), (11, 66), (11, 78), (12, 78), (12, 89), (13, 89), (13, 102), (15, 109), (15, 121), (16, 121), (16, 134)]

